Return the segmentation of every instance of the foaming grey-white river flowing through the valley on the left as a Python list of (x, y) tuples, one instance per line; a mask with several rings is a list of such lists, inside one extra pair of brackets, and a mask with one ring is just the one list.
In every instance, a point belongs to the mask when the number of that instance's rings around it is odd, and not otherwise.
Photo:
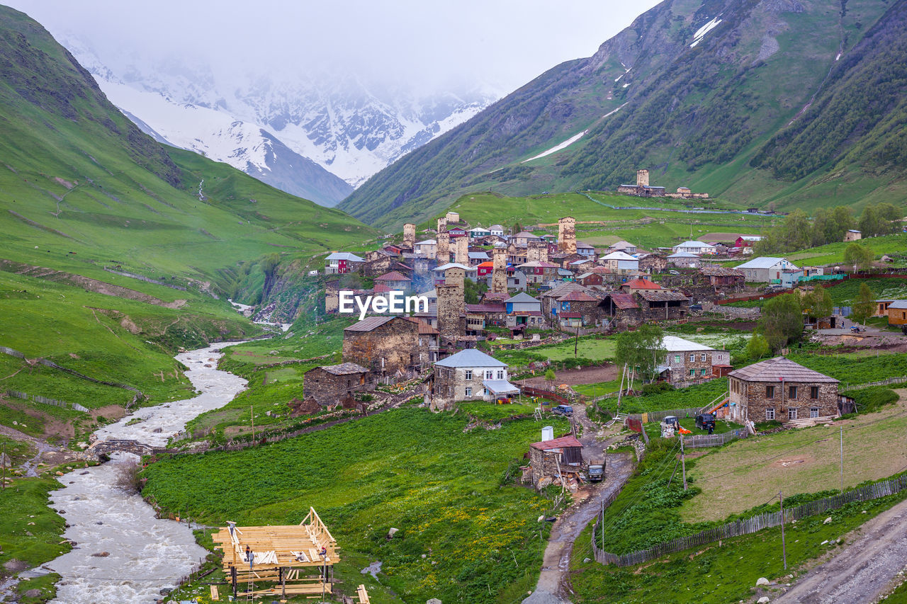
[[(236, 344), (236, 343), (230, 343)], [(189, 367), (186, 376), (200, 395), (182, 401), (144, 407), (104, 426), (98, 440), (124, 439), (162, 446), (193, 417), (229, 403), (246, 387), (238, 375), (217, 369), (219, 344), (182, 353), (176, 358)], [(130, 420), (141, 422), (126, 425)], [(60, 478), (63, 489), (51, 493), (53, 507), (69, 523), (63, 536), (76, 546), (44, 564), (62, 576), (54, 604), (150, 604), (161, 589), (173, 589), (199, 566), (207, 551), (196, 544), (186, 523), (159, 520), (137, 494), (118, 486), (124, 463), (132, 453), (115, 453), (110, 463)], [(107, 555), (97, 555), (106, 552)]]

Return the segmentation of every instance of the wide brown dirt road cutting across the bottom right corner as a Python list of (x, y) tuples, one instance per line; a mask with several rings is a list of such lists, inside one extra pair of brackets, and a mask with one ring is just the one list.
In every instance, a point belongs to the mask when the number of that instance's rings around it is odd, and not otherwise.
[(876, 601), (907, 564), (907, 502), (884, 511), (857, 531), (860, 536), (856, 541), (807, 572), (773, 601), (784, 604)]

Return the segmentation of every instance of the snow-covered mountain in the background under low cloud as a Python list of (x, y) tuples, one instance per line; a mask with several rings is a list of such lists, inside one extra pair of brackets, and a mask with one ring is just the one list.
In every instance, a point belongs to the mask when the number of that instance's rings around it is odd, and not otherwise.
[(108, 64), (78, 38), (63, 44), (159, 141), (327, 206), (500, 96), (487, 89), (416, 94), (336, 74), (278, 82), (215, 74), (176, 58), (116, 57)]

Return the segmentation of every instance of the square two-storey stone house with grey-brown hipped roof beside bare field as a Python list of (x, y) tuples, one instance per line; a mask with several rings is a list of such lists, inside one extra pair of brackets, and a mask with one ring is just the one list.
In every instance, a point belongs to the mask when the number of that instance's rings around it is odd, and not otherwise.
[(839, 414), (838, 380), (784, 356), (736, 369), (728, 378), (728, 414), (739, 423)]

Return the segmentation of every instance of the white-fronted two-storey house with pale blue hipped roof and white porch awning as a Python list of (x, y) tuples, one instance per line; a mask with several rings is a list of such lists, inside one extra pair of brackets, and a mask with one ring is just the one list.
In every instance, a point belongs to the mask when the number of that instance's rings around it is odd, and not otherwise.
[(507, 364), (481, 350), (467, 348), (434, 364), (431, 409), (452, 409), (460, 401), (495, 401), (519, 395), (508, 382)]

